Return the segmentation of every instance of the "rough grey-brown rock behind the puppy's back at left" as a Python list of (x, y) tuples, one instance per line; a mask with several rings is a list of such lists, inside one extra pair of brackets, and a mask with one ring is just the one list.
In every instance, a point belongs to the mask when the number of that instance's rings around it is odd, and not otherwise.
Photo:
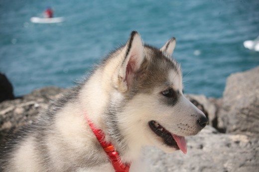
[(67, 89), (45, 87), (36, 89), (21, 98), (0, 103), (0, 140), (3, 136), (15, 133), (25, 124), (33, 123), (39, 112), (45, 109), (50, 100), (60, 97)]

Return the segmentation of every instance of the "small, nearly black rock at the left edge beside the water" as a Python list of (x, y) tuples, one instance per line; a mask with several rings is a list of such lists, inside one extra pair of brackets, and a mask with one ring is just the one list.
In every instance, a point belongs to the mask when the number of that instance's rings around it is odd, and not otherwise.
[(0, 73), (0, 102), (13, 99), (12, 85), (4, 74)]

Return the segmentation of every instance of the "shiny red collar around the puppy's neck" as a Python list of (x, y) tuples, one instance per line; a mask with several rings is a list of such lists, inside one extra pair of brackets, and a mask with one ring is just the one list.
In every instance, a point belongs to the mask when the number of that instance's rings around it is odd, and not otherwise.
[(121, 163), (121, 157), (119, 153), (114, 149), (114, 146), (112, 143), (108, 143), (105, 141), (105, 135), (104, 132), (101, 129), (97, 129), (94, 124), (88, 119), (86, 113), (85, 113), (86, 119), (95, 134), (97, 140), (101, 144), (101, 146), (104, 148), (104, 151), (108, 155), (108, 157), (111, 160), (111, 163), (114, 167), (115, 172), (129, 172), (130, 164), (123, 164)]

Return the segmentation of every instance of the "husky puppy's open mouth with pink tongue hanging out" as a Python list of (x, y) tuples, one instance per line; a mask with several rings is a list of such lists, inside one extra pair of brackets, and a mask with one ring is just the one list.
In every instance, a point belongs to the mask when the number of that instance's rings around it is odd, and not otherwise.
[(177, 136), (170, 133), (163, 126), (161, 126), (156, 121), (149, 121), (149, 127), (151, 130), (160, 138), (162, 138), (164, 144), (169, 147), (175, 148), (176, 150), (181, 150), (184, 154), (187, 153), (187, 147), (184, 136)]

